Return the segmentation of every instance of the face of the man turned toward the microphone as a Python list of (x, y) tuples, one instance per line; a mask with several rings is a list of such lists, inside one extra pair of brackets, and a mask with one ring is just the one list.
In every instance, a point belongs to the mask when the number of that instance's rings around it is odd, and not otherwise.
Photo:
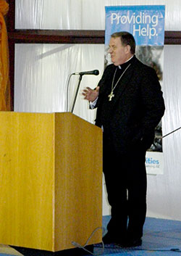
[(111, 38), (109, 42), (109, 54), (111, 54), (111, 62), (115, 66), (122, 65), (130, 59), (130, 46), (123, 46), (120, 38)]

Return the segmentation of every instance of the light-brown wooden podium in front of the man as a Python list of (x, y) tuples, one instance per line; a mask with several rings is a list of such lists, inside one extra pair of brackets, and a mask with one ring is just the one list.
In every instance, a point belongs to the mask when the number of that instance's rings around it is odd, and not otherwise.
[(101, 129), (70, 112), (0, 112), (0, 120), (0, 244), (51, 252), (85, 244), (102, 226)]

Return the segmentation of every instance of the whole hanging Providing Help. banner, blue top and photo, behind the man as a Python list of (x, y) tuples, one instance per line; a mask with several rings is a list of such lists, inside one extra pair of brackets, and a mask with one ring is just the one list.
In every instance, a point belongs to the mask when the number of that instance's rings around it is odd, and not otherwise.
[[(153, 67), (163, 84), (164, 67), (164, 5), (110, 6), (106, 10), (104, 67), (111, 64), (109, 41), (111, 34), (127, 31), (135, 38), (136, 57)], [(163, 173), (161, 122), (156, 126), (155, 139), (146, 153), (149, 174)]]

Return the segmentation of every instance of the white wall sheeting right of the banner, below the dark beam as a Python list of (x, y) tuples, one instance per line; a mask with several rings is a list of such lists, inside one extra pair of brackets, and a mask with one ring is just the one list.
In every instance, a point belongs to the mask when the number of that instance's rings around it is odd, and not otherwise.
[[(163, 135), (181, 126), (181, 46), (164, 46)], [(163, 139), (164, 175), (148, 176), (148, 215), (181, 220), (181, 129)]]

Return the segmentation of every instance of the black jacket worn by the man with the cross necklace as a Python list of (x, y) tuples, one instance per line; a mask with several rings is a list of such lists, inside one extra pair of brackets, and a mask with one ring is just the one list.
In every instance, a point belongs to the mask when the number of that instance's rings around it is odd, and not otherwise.
[(103, 126), (104, 136), (118, 152), (127, 152), (140, 143), (148, 149), (165, 110), (158, 77), (153, 68), (143, 65), (134, 56), (109, 102), (116, 68), (107, 66), (98, 83), (96, 125)]

